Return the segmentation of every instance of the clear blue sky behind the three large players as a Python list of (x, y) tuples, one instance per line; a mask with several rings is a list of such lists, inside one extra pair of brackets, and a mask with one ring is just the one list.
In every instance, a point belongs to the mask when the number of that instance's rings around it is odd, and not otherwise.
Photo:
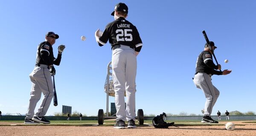
[[(47, 115), (61, 112), (61, 105), (87, 116), (97, 115), (99, 109), (106, 111), (104, 84), (111, 46), (98, 46), (94, 33), (113, 21), (110, 14), (119, 2), (128, 5), (127, 20), (137, 27), (143, 41), (137, 56), (136, 111), (201, 113), (205, 97), (192, 77), (206, 43), (205, 30), (218, 46), (215, 55), (222, 69), (232, 69), (230, 75), (212, 76), (220, 90), (212, 114), (218, 110), (256, 112), (254, 0), (2, 0), (2, 113), (27, 112), (29, 73), (35, 66), (37, 46), (48, 31), (60, 36), (53, 45), (55, 56), (58, 45), (65, 44), (66, 49), (61, 65), (55, 67), (58, 106), (51, 104)], [(82, 35), (86, 41), (81, 41)]]

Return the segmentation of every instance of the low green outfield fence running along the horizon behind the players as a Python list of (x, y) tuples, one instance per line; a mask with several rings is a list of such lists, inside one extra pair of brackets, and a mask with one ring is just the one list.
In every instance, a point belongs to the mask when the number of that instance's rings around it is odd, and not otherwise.
[[(66, 116), (45, 116), (48, 120), (67, 120)], [(2, 116), (1, 121), (20, 121), (24, 120), (25, 116)], [(144, 117), (144, 120), (152, 120), (154, 117)], [(168, 116), (166, 120), (201, 120), (202, 116)], [(218, 120), (217, 116), (212, 116), (212, 119)], [(221, 116), (221, 120), (225, 120), (226, 116)], [(80, 120), (79, 117), (70, 117), (70, 120)], [(98, 120), (96, 116), (82, 117), (82, 120)], [(232, 115), (230, 120), (256, 120), (256, 115)]]

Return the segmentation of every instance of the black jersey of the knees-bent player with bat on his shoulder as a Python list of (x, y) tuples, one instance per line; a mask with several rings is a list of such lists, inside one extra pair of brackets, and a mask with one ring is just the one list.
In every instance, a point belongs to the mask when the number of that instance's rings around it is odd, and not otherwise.
[(212, 75), (222, 74), (222, 72), (217, 71), (215, 69), (218, 69), (218, 66), (213, 63), (212, 54), (209, 51), (201, 52), (196, 62), (195, 73), (205, 72), (207, 74), (212, 74)]

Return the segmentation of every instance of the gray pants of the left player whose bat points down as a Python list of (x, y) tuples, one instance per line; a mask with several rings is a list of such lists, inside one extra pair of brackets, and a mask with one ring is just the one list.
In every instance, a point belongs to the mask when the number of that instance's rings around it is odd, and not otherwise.
[[(32, 119), (33, 116), (44, 116), (47, 113), (53, 97), (52, 76), (47, 65), (40, 64), (40, 67), (35, 67), (35, 69), (29, 74), (29, 77), (32, 82), (32, 87), (28, 113), (26, 114), (25, 119)], [(38, 112), (34, 114), (36, 104), (40, 100), (42, 93), (44, 97), (40, 108), (38, 109)]]

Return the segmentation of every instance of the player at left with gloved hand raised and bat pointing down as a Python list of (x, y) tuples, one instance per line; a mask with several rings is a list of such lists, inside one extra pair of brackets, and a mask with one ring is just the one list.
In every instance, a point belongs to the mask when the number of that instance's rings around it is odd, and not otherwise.
[[(54, 58), (52, 46), (59, 36), (54, 32), (47, 32), (45, 41), (38, 45), (36, 64), (34, 70), (29, 74), (32, 82), (28, 113), (26, 113), (25, 124), (44, 123), (50, 122), (44, 118), (47, 113), (49, 105), (53, 97), (53, 84), (52, 76), (55, 75), (55, 68), (53, 64), (59, 65), (61, 62), (61, 55), (65, 49), (64, 45), (58, 46), (58, 57)], [(41, 93), (44, 97), (41, 101), (40, 108), (37, 113), (34, 113), (35, 106), (41, 98)]]

